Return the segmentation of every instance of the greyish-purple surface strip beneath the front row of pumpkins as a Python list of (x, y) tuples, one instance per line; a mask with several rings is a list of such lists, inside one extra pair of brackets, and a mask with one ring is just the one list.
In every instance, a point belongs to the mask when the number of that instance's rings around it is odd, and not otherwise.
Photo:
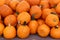
[(0, 37), (0, 40), (60, 40), (60, 39), (53, 39), (51, 37), (46, 37), (46, 38), (41, 38), (38, 35), (30, 35), (28, 38), (26, 39), (20, 39), (18, 37), (14, 38), (14, 39), (5, 39), (3, 37)]

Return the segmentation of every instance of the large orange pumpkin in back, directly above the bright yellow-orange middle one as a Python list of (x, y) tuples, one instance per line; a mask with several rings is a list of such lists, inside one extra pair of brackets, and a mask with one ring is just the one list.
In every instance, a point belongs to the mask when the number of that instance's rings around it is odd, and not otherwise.
[(26, 1), (21, 1), (17, 6), (16, 6), (16, 11), (21, 13), (24, 11), (29, 11), (30, 5)]

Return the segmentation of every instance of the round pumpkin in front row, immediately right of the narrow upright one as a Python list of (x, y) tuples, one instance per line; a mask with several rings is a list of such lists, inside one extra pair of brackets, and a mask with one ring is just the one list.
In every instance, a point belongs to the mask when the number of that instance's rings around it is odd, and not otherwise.
[(47, 37), (49, 35), (50, 28), (46, 24), (42, 24), (41, 26), (38, 27), (37, 32), (39, 36)]

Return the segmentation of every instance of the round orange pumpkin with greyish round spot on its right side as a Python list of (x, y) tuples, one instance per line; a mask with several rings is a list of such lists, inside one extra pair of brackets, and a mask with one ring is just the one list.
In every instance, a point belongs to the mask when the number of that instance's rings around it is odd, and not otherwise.
[(59, 23), (59, 17), (56, 14), (50, 14), (46, 17), (45, 22), (50, 27), (54, 27)]

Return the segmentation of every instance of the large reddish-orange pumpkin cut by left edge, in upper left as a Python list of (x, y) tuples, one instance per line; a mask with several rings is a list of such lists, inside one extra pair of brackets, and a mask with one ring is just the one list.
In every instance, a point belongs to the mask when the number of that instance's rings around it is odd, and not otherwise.
[(3, 17), (6, 17), (13, 13), (12, 9), (8, 5), (0, 6), (0, 13)]

